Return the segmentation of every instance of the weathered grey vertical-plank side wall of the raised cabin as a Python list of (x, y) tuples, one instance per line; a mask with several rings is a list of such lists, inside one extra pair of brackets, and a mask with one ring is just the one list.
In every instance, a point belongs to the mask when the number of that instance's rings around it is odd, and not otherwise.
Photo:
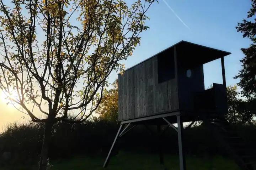
[[(173, 55), (173, 49), (169, 55)], [(158, 83), (158, 57), (118, 75), (118, 119), (127, 120), (176, 111), (177, 79)]]

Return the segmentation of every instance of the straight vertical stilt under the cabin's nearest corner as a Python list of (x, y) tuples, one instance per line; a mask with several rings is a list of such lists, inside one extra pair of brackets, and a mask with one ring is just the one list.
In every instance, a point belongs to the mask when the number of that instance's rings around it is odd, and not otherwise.
[(185, 154), (182, 148), (183, 124), (182, 124), (180, 115), (177, 115), (177, 123), (178, 123), (178, 149), (179, 149), (179, 158), (180, 158), (180, 170), (186, 170)]

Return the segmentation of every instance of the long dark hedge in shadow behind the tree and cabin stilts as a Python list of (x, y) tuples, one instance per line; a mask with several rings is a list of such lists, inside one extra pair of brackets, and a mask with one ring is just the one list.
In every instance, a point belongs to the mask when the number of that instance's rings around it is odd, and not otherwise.
[[(83, 124), (57, 123), (53, 128), (49, 159), (68, 158), (75, 154), (101, 154), (105, 156), (116, 135), (119, 125), (95, 119)], [(162, 128), (165, 128), (164, 126)], [(256, 143), (255, 129), (248, 125), (234, 125), (252, 149)], [(43, 124), (12, 124), (0, 135), (0, 156), (11, 153), (11, 159), (0, 159), (0, 165), (34, 164), (39, 160), (43, 141)], [(158, 137), (155, 126), (137, 126), (121, 140), (117, 147), (131, 152), (158, 152)], [(162, 138), (161, 146), (165, 154), (177, 154), (177, 133), (169, 128)], [(184, 131), (184, 146), (187, 154), (225, 155), (212, 132), (203, 124)]]

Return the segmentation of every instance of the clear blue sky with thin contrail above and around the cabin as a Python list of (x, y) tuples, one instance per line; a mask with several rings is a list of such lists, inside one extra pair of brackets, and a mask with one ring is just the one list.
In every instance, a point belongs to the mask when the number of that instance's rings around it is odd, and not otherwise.
[[(133, 0), (134, 1), (134, 0)], [(227, 85), (235, 85), (233, 79), (241, 69), (244, 55), (242, 47), (248, 47), (250, 40), (242, 38), (235, 26), (246, 18), (251, 8), (250, 0), (165, 0), (175, 13), (159, 0), (147, 13), (149, 30), (142, 33), (141, 45), (133, 55), (124, 61), (126, 68), (153, 56), (178, 41), (186, 40), (196, 44), (231, 52), (225, 57)], [(131, 1), (129, 1), (131, 3)], [(187, 28), (188, 27), (188, 28)], [(220, 60), (204, 65), (205, 86), (222, 83)], [(110, 76), (110, 83), (117, 78), (117, 73)]]

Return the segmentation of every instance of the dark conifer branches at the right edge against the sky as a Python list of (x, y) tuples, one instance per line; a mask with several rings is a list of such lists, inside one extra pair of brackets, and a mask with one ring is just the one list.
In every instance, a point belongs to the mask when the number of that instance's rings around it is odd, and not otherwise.
[(247, 18), (242, 23), (238, 23), (236, 29), (243, 33), (243, 37), (250, 38), (252, 44), (246, 49), (241, 49), (245, 57), (241, 60), (242, 69), (235, 78), (240, 78), (238, 85), (242, 88), (242, 95), (249, 100), (256, 95), (256, 0), (252, 1), (252, 8), (248, 12)]

